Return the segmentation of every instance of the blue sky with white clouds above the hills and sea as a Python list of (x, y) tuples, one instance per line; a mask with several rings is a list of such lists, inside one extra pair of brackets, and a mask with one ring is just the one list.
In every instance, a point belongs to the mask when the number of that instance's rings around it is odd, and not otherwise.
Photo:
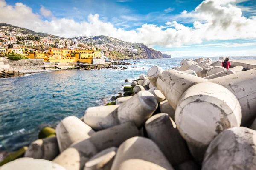
[(256, 55), (256, 0), (0, 0), (0, 22), (67, 38), (106, 35), (172, 57)]

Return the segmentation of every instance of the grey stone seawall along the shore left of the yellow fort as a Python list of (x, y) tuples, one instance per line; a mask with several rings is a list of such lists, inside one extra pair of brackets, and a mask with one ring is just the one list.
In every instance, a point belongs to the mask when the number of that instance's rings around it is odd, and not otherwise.
[(4, 64), (9, 64), (10, 68), (22, 69), (22, 70), (39, 70), (44, 67), (44, 59), (21, 59), (21, 60), (10, 60), (3, 59), (1, 60)]

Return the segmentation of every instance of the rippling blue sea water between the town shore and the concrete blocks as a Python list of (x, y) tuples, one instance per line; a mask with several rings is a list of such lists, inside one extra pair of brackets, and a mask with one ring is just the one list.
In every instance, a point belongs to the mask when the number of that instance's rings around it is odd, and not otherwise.
[(137, 79), (153, 65), (172, 68), (181, 59), (132, 60), (137, 64), (127, 70), (65, 70), (0, 79), (0, 150), (29, 145), (42, 127), (55, 127), (67, 116), (80, 118), (88, 107), (106, 104), (131, 83), (125, 79)]

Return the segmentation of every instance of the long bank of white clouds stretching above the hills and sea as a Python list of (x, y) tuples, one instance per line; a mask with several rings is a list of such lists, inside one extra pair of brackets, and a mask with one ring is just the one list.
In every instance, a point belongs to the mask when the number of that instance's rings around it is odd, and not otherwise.
[[(13, 24), (62, 37), (108, 35), (128, 42), (140, 42), (153, 47), (179, 47), (183, 45), (201, 44), (204, 40), (234, 40), (256, 38), (256, 17), (246, 18), (236, 2), (242, 0), (205, 0), (192, 12), (183, 11), (177, 17), (193, 20), (193, 27), (170, 20), (166, 26), (143, 24), (137, 29), (126, 31), (116, 28), (113, 23), (99, 19), (99, 14), (90, 14), (88, 21), (76, 22), (73, 19), (53, 18), (44, 21), (41, 15), (23, 3), (15, 6), (7, 5), (0, 0), (0, 22)], [(244, 0), (243, 0), (244, 1)], [(47, 10), (44, 8), (44, 10)], [(6, 15), (8, 14), (8, 15)], [(49, 16), (51, 13), (47, 13)], [(45, 13), (44, 13), (45, 15)], [(122, 15), (128, 21), (139, 21), (140, 16)], [(122, 23), (114, 18), (115, 23)], [(114, 20), (113, 19), (113, 20)]]

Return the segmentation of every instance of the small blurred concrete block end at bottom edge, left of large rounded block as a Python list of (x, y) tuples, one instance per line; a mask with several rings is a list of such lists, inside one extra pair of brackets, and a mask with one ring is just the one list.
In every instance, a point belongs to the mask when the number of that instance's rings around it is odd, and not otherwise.
[(84, 170), (110, 170), (116, 151), (116, 147), (102, 150), (85, 163)]

